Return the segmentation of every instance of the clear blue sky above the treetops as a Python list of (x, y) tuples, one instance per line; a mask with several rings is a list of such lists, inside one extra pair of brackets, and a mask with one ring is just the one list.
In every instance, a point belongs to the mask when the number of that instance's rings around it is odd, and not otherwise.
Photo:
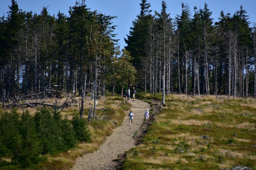
[[(68, 12), (70, 6), (73, 6), (76, 0), (17, 0), (19, 8), (26, 11), (32, 11), (40, 13), (42, 7), (48, 7), (48, 11), (51, 14), (57, 14), (60, 10), (63, 13)], [(85, 3), (91, 10), (97, 10), (106, 15), (117, 16), (113, 20), (114, 24), (118, 27), (115, 33), (117, 38), (120, 39), (120, 46), (123, 48), (126, 44), (124, 37), (129, 33), (132, 21), (136, 18), (136, 15), (140, 12), (139, 3), (141, 0), (86, 0)], [(151, 3), (151, 9), (158, 12), (161, 9), (162, 0), (148, 0)], [(243, 5), (247, 10), (251, 22), (256, 22), (256, 0), (165, 0), (167, 3), (167, 12), (174, 18), (175, 14), (181, 13), (181, 3), (187, 3), (190, 7), (191, 13), (193, 13), (194, 6), (204, 7), (204, 2), (208, 3), (208, 7), (212, 11), (212, 18), (219, 17), (221, 10), (224, 12), (230, 12), (233, 14), (236, 10), (239, 10), (240, 5)], [(11, 4), (11, 0), (0, 0), (0, 15), (7, 13), (8, 5)]]

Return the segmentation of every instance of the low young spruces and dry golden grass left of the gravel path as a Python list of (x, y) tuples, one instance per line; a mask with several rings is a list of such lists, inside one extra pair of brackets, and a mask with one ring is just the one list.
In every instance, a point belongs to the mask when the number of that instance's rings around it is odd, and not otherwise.
[(71, 120), (49, 108), (41, 108), (35, 115), (0, 111), (0, 169), (71, 168), (78, 156), (97, 150), (122, 123), (123, 111), (130, 104), (118, 106), (119, 101), (117, 96), (105, 99), (97, 119), (90, 123), (87, 115), (78, 117), (78, 109), (70, 111)]

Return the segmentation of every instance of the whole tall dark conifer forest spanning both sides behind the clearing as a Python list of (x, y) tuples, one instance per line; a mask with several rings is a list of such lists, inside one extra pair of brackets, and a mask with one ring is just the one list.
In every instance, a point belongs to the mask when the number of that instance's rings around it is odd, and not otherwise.
[[(243, 6), (232, 14), (221, 11), (214, 23), (207, 3), (192, 12), (182, 3), (175, 18), (164, 1), (159, 13), (146, 0), (140, 5), (122, 50), (137, 70), (138, 88), (255, 97), (256, 29)], [(113, 90), (113, 63), (121, 53), (113, 18), (84, 2), (70, 8), (69, 16), (51, 16), (46, 7), (40, 14), (22, 11), (13, 0), (0, 20), (1, 95), (45, 97), (57, 90), (98, 96)]]

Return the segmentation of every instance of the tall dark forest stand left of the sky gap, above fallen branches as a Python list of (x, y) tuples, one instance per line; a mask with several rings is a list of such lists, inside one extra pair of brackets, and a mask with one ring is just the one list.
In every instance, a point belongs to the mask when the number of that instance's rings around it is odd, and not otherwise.
[(0, 19), (1, 95), (56, 97), (52, 92), (59, 91), (93, 98), (121, 81), (113, 76), (120, 55), (115, 17), (91, 11), (84, 0), (69, 16), (49, 15), (46, 7), (24, 12), (15, 0), (9, 8)]

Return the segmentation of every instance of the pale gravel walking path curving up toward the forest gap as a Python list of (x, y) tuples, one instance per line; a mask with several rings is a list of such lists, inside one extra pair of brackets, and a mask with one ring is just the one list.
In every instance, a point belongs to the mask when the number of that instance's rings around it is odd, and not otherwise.
[(133, 125), (129, 126), (129, 112), (125, 112), (122, 125), (106, 138), (98, 151), (78, 157), (73, 170), (112, 170), (116, 165), (112, 160), (126, 150), (135, 147), (133, 135), (143, 123), (145, 110), (147, 108), (150, 110), (150, 105), (142, 100), (135, 100), (130, 103), (134, 113)]

